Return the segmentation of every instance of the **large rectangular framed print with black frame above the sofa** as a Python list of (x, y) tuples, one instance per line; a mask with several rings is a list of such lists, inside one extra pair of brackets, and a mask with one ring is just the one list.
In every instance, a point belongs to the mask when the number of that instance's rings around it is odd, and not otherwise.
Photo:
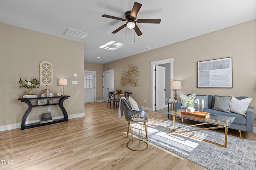
[(197, 62), (198, 88), (232, 88), (232, 57)]

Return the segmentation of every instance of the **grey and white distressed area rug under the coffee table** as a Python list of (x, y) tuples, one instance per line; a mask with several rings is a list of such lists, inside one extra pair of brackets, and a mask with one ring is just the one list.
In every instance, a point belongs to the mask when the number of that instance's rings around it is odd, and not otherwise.
[[(185, 125), (175, 122), (175, 127)], [(149, 125), (149, 141), (210, 170), (256, 169), (255, 141), (228, 135), (227, 148), (224, 148), (182, 134), (166, 135), (172, 127), (170, 120), (158, 125)], [(198, 128), (188, 127), (186, 130)], [(224, 144), (224, 133), (205, 130), (191, 132), (191, 134)]]

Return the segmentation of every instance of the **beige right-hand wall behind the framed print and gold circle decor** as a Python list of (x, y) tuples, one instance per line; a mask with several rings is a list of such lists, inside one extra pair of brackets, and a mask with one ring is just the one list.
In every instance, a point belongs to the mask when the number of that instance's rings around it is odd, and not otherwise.
[[(138, 105), (151, 107), (151, 61), (174, 58), (174, 80), (182, 82), (179, 93), (228, 96), (247, 96), (256, 107), (256, 20), (214, 31), (185, 41), (167, 45), (145, 53), (103, 64), (114, 69), (114, 79), (120, 88), (133, 92)], [(197, 88), (197, 62), (232, 57), (233, 88)], [(128, 64), (140, 70), (138, 86), (120, 85), (120, 78)], [(144, 103), (146, 99), (146, 103)], [(178, 98), (179, 99), (179, 98)], [(179, 99), (180, 100), (180, 99)]]

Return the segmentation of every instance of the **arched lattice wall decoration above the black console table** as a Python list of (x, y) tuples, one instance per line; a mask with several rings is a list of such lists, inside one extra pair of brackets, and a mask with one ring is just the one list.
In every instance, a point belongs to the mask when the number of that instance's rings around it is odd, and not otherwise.
[(42, 61), (39, 65), (40, 86), (53, 85), (53, 65), (50, 61)]

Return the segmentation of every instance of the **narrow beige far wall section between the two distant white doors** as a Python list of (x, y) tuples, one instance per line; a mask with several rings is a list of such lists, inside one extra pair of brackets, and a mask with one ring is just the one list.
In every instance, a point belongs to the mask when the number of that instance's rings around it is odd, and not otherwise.
[(103, 100), (103, 78), (102, 78), (102, 65), (96, 63), (84, 62), (84, 70), (96, 71), (96, 100)]

